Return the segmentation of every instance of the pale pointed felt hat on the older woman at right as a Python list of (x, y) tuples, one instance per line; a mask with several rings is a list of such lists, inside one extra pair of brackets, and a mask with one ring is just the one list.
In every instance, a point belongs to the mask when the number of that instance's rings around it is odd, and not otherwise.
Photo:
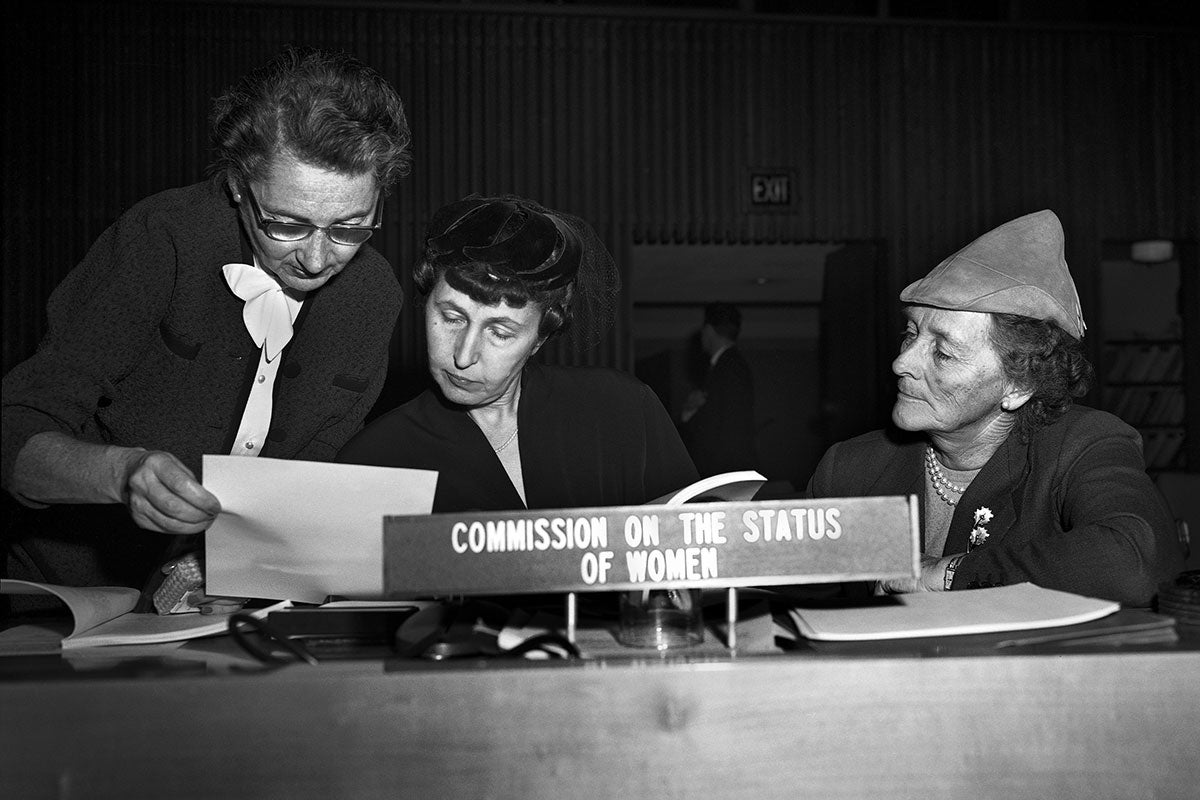
[(1058, 217), (1034, 211), (979, 236), (910, 283), (900, 300), (1048, 319), (1079, 339), (1087, 326), (1063, 249)]

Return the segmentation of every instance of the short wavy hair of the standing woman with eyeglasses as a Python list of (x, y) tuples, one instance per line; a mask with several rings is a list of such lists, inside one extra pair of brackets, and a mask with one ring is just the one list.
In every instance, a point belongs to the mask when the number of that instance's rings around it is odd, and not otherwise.
[(344, 53), (288, 47), (212, 103), (209, 175), (263, 180), (290, 155), (347, 175), (371, 174), (384, 193), (412, 167), (404, 104), (378, 72)]

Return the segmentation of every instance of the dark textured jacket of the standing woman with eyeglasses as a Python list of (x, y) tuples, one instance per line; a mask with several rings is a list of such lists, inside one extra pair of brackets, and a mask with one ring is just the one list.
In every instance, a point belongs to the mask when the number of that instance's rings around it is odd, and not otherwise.
[[(4, 378), (5, 487), (20, 447), (44, 431), (164, 450), (197, 475), (204, 453), (228, 453), (258, 366), (221, 273), (230, 261), (252, 263), (250, 245), (212, 182), (121, 215), (52, 294), (37, 353)], [(262, 456), (332, 459), (379, 396), (400, 306), (391, 266), (367, 246), (308, 295), (281, 356)], [(139, 533), (120, 506), (10, 507), (6, 537), (34, 535), (58, 540), (31, 555), (44, 577), (76, 584), (142, 585), (131, 573), (144, 575), (172, 539)], [(90, 554), (71, 554), (74, 545)]]

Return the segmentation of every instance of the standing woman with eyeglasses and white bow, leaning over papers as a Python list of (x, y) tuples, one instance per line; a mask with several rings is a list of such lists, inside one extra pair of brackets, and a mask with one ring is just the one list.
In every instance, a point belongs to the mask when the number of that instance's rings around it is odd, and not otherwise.
[(343, 54), (289, 48), (215, 101), (210, 180), (106, 230), (4, 379), (25, 509), (0, 575), (140, 587), (173, 541), (146, 531), (220, 511), (203, 455), (334, 457), (386, 374), (401, 291), (365, 242), (409, 138), (396, 91)]

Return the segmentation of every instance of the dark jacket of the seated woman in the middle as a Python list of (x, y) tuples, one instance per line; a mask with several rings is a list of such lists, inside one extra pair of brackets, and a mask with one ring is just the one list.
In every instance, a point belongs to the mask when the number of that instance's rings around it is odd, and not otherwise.
[(437, 390), (374, 420), (337, 459), (438, 470), (434, 512), (640, 505), (696, 480), (658, 396), (614, 369), (527, 365), (517, 421), (527, 504), (467, 410)]

